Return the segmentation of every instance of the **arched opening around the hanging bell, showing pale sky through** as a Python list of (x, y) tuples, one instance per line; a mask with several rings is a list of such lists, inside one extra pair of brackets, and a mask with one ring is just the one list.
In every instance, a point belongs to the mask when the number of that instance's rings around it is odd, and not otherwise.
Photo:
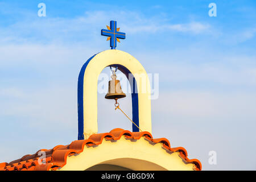
[[(109, 81), (112, 80), (110, 77), (111, 75), (112, 72), (108, 66), (103, 69), (98, 77), (98, 133), (105, 133), (113, 128), (122, 128), (131, 131), (132, 123), (125, 117), (125, 115), (123, 115), (123, 113), (121, 113), (121, 111), (115, 110), (115, 101), (105, 98), (106, 93), (108, 93)], [(122, 110), (132, 119), (133, 113), (129, 81), (119, 70), (117, 70), (116, 75), (117, 80), (120, 81), (123, 93), (126, 94), (126, 97), (120, 98), (118, 103)]]

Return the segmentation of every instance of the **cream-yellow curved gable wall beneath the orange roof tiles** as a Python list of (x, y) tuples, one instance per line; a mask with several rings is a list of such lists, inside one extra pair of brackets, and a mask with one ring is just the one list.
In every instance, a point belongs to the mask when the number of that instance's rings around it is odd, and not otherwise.
[(132, 170), (193, 170), (195, 164), (186, 164), (179, 152), (170, 152), (162, 144), (154, 144), (142, 137), (139, 140), (103, 140), (95, 147), (86, 147), (80, 154), (68, 156), (60, 170), (85, 170), (97, 164), (112, 164)]

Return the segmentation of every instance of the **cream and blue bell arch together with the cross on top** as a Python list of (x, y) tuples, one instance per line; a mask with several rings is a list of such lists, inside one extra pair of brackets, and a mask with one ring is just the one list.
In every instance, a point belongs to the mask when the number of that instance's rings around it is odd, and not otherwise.
[[(139, 127), (151, 133), (151, 90), (147, 73), (135, 57), (115, 49), (116, 41), (119, 42), (119, 38), (125, 39), (125, 33), (119, 32), (116, 22), (111, 21), (110, 27), (107, 27), (108, 30), (102, 29), (101, 34), (108, 36), (111, 49), (90, 57), (79, 73), (77, 87), (79, 140), (87, 139), (98, 132), (97, 82), (98, 76), (105, 67), (115, 67), (129, 79), (132, 92), (133, 131), (139, 131)], [(106, 97), (111, 96), (107, 94)]]

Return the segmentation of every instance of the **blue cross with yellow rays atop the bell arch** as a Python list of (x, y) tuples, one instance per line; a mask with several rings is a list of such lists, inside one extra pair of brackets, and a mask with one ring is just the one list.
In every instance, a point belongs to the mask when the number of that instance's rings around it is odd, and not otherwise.
[(119, 32), (120, 28), (117, 28), (116, 21), (110, 21), (110, 27), (106, 26), (108, 30), (101, 29), (101, 35), (108, 36), (107, 40), (110, 40), (111, 49), (115, 49), (117, 47), (117, 41), (120, 42), (119, 39), (125, 39), (125, 33)]

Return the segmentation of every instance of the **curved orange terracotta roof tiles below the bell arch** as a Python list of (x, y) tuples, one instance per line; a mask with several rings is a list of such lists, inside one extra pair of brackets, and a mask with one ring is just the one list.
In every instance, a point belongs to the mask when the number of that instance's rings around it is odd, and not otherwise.
[[(153, 143), (162, 143), (165, 150), (171, 152), (179, 152), (180, 157), (186, 163), (193, 163), (196, 166), (196, 170), (201, 170), (202, 166), (197, 159), (188, 159), (187, 151), (183, 147), (171, 148), (171, 144), (166, 138), (156, 138), (154, 139), (150, 133), (147, 131), (143, 132), (131, 132), (123, 129), (113, 129), (109, 133), (93, 134), (86, 140), (75, 140), (71, 144), (63, 146), (55, 146), (50, 150), (42, 149), (37, 151), (33, 155), (24, 155), (22, 158), (14, 160), (10, 163), (0, 163), (0, 171), (49, 171), (56, 170), (60, 167), (65, 166), (67, 163), (67, 157), (74, 154), (79, 154), (84, 151), (85, 146), (94, 146), (102, 143), (105, 138), (107, 140), (119, 140), (122, 136), (129, 139), (140, 139), (141, 137), (146, 138)], [(46, 152), (46, 159), (43, 163), (39, 164), (38, 153), (40, 151)]]

